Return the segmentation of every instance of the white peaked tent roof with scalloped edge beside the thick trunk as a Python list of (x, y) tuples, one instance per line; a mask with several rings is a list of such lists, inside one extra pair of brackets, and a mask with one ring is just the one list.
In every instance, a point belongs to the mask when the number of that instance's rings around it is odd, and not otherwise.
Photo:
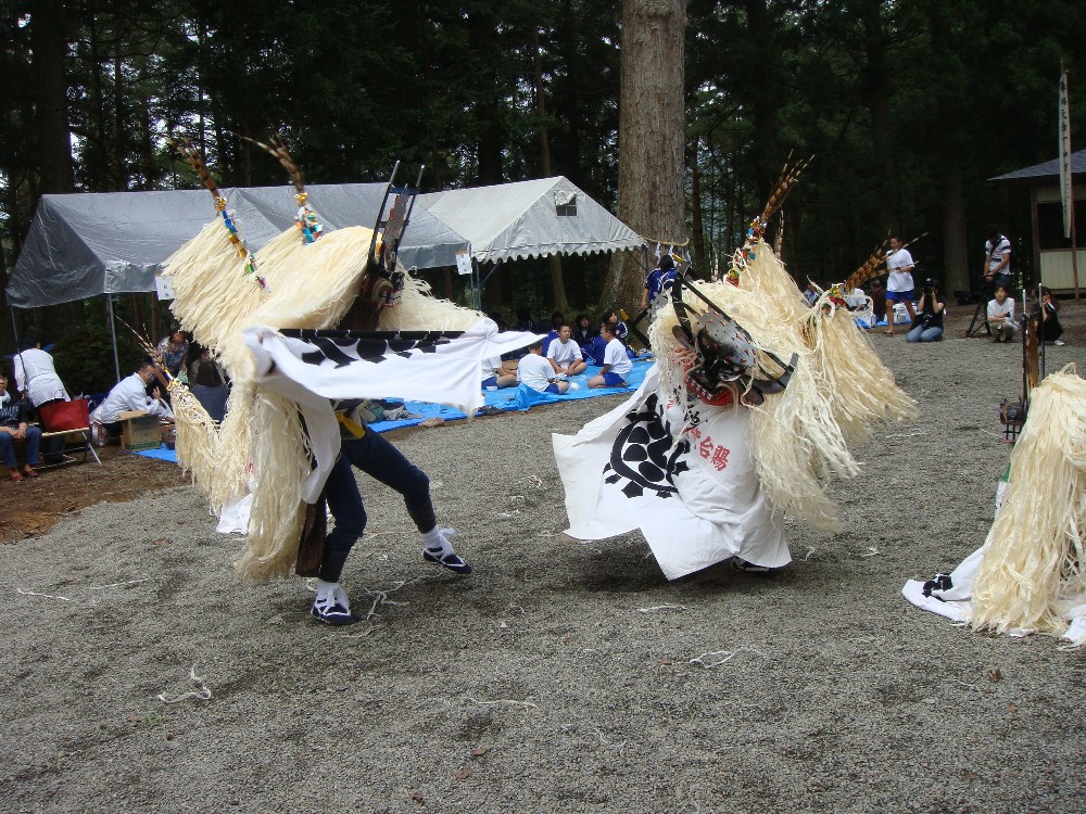
[[(467, 238), (471, 255), (480, 262), (615, 252), (645, 244), (561, 176), (430, 192), (419, 195), (418, 202)], [(576, 204), (576, 209), (558, 215), (557, 207), (566, 204)]]

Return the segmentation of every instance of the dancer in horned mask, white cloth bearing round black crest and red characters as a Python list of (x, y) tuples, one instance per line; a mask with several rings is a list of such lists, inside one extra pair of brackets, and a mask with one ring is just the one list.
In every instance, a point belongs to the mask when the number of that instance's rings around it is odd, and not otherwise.
[(812, 308), (763, 240), (800, 167), (785, 168), (727, 279), (680, 274), (652, 315), (657, 363), (626, 404), (554, 436), (567, 534), (640, 529), (665, 575), (734, 558), (765, 573), (790, 562), (783, 516), (832, 532), (830, 475), (853, 476), (849, 444), (915, 416), (853, 316)]

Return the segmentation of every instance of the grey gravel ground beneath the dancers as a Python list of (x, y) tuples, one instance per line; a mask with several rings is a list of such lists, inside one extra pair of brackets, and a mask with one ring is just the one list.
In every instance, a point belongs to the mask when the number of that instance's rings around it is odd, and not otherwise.
[[(1086, 360), (1084, 313), (1049, 369)], [(0, 810), (1083, 811), (1083, 653), (899, 593), (984, 539), (1019, 349), (872, 341), (923, 417), (835, 486), (846, 531), (791, 526), (770, 577), (668, 583), (640, 534), (564, 537), (550, 434), (617, 397), (400, 437), (476, 573), (422, 563), (365, 480), (344, 581), (375, 615), (350, 628), (300, 580), (236, 577), (188, 486), (3, 545)]]

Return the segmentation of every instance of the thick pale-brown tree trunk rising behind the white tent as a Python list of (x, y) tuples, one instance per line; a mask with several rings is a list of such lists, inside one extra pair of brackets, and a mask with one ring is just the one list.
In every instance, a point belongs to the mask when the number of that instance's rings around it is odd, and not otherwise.
[[(639, 234), (685, 240), (683, 194), (683, 0), (623, 0), (618, 217)], [(604, 306), (635, 308), (645, 280), (640, 253), (616, 254)]]

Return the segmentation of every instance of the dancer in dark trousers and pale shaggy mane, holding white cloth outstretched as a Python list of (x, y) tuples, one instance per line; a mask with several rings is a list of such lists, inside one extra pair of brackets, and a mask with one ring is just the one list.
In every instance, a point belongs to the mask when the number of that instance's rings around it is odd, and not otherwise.
[[(220, 427), (199, 414), (179, 417), (178, 458), (217, 511), (251, 494), (242, 574), (316, 576), (312, 614), (351, 624), (358, 618), (340, 577), (367, 520), (352, 466), (403, 495), (424, 560), (471, 570), (450, 542), (452, 530), (439, 527), (426, 474), (365, 427), (361, 399), (441, 402), (472, 415), (482, 399), (481, 360), (535, 336), (498, 336), (481, 314), (431, 297), (397, 264), (417, 190), (393, 188), (395, 170), (375, 229), (321, 229), (315, 240), (306, 224), (319, 218), (296, 167), (281, 141), (265, 149), (295, 180), (301, 225), (265, 245), (257, 263), (233, 216), (228, 241), (211, 224), (167, 262), (175, 315), (233, 382)], [(191, 150), (188, 157), (207, 185), (202, 161)], [(226, 200), (209, 189), (227, 219)], [(230, 244), (258, 275), (239, 274)], [(326, 499), (336, 521), (327, 536)]]

